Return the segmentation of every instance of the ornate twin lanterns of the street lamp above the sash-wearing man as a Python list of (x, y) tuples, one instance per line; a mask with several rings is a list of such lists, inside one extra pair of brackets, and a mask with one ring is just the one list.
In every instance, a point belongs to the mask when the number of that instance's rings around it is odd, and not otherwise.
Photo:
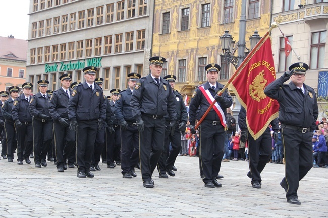
[[(250, 52), (250, 50), (246, 47), (245, 44), (240, 44), (239, 42), (237, 42), (237, 46), (234, 48), (236, 41), (233, 41), (233, 38), (234, 37), (232, 37), (232, 35), (229, 34), (228, 30), (225, 31), (223, 36), (220, 36), (222, 52), (223, 52), (222, 56), (224, 56), (225, 61), (232, 63), (234, 67), (237, 69), (239, 65), (238, 59), (242, 59), (242, 60), (245, 59), (245, 54), (244, 56), (242, 55), (234, 56), (235, 51), (240, 47), (244, 47), (248, 52)], [(260, 39), (261, 37), (258, 35), (258, 31), (255, 30), (254, 34), (249, 37), (251, 50), (260, 41)]]

